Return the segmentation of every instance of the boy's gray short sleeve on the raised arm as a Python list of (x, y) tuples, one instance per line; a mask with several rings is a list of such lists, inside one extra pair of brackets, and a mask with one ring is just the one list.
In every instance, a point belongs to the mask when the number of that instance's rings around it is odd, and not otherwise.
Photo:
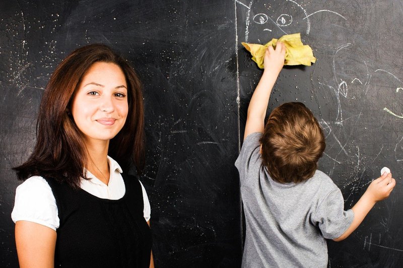
[(261, 161), (259, 142), (261, 136), (262, 133), (260, 132), (251, 133), (243, 141), (241, 153), (235, 161), (235, 166), (239, 171), (241, 181), (246, 177), (249, 169), (252, 166), (259, 165), (257, 162)]

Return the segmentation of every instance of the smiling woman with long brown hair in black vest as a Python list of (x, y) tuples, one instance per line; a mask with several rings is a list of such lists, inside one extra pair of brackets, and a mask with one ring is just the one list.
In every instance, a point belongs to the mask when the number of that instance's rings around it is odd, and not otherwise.
[(121, 174), (144, 167), (142, 102), (135, 71), (105, 45), (57, 66), (35, 149), (15, 168), (25, 180), (12, 213), (21, 267), (154, 267), (147, 194)]

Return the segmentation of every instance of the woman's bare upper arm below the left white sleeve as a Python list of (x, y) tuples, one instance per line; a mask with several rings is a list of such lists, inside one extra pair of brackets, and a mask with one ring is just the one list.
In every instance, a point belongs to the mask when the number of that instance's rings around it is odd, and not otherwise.
[(21, 268), (54, 266), (56, 231), (38, 223), (17, 221), (15, 235)]

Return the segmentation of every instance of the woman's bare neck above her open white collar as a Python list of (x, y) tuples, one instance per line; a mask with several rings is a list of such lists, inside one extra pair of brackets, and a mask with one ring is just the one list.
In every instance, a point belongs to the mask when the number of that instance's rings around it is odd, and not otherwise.
[(108, 164), (108, 147), (109, 141), (87, 143), (88, 163), (87, 170), (89, 170), (100, 181), (108, 185), (109, 183), (109, 164)]

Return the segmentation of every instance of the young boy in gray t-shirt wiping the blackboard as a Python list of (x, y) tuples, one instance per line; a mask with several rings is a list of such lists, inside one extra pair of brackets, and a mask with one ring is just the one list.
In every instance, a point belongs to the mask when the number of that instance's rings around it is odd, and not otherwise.
[(302, 103), (285, 103), (273, 110), (264, 127), (285, 50), (278, 43), (265, 52), (235, 163), (246, 220), (242, 267), (326, 267), (326, 239), (347, 238), (395, 185), (385, 172), (344, 211), (342, 192), (316, 169), (325, 139), (312, 112)]

